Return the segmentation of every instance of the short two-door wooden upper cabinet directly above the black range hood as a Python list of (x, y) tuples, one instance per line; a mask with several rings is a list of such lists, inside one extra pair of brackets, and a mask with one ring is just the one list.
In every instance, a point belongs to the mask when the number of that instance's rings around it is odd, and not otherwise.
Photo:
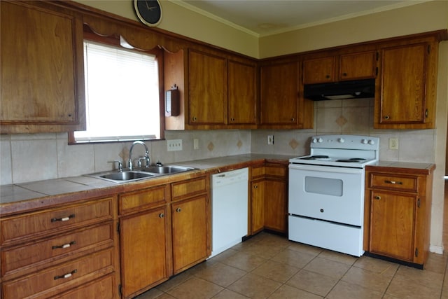
[(328, 83), (375, 78), (376, 51), (305, 58), (303, 83)]

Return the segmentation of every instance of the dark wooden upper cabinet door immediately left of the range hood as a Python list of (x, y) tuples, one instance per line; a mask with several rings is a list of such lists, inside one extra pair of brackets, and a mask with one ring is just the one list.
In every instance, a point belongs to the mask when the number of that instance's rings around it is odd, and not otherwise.
[(261, 67), (260, 80), (261, 125), (297, 125), (297, 62)]

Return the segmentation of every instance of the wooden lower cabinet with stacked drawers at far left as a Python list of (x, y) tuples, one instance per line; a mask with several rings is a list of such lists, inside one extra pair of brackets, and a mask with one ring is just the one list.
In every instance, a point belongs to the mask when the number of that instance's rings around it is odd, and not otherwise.
[(0, 218), (1, 298), (118, 298), (116, 196)]

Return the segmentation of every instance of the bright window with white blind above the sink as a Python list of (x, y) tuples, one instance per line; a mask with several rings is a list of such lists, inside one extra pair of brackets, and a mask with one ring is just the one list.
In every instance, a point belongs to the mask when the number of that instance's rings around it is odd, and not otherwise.
[(156, 55), (85, 41), (84, 63), (87, 130), (74, 143), (161, 138)]

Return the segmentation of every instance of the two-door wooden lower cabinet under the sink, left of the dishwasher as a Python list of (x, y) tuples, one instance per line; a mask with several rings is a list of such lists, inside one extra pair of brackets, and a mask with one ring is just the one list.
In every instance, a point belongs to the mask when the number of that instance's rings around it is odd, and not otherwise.
[(123, 298), (144, 293), (210, 255), (208, 176), (118, 199)]

